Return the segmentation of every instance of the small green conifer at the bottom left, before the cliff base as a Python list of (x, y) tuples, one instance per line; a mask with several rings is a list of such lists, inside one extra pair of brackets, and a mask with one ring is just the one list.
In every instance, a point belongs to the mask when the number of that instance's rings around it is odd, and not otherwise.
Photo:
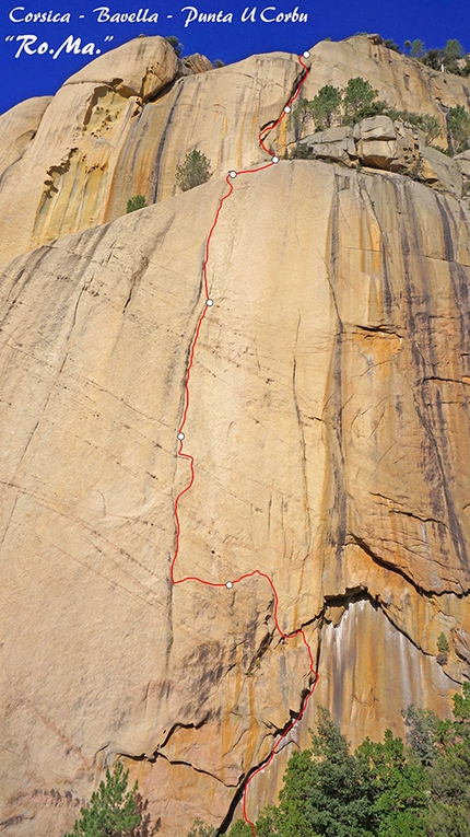
[(106, 770), (106, 780), (91, 795), (90, 803), (80, 809), (81, 817), (66, 837), (127, 837), (142, 822), (137, 794), (137, 782), (128, 791), (129, 770), (117, 762), (113, 774)]

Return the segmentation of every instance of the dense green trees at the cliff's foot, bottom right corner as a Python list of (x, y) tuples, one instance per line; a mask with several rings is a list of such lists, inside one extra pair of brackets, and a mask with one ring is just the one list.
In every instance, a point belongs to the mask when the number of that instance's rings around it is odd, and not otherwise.
[[(413, 706), (403, 718), (406, 742), (387, 730), (381, 743), (366, 739), (352, 754), (320, 708), (312, 747), (290, 758), (279, 804), (261, 811), (257, 837), (470, 837), (470, 683), (454, 697), (454, 720)], [(211, 837), (210, 826), (197, 825), (189, 837)], [(237, 819), (230, 837), (251, 829)]]

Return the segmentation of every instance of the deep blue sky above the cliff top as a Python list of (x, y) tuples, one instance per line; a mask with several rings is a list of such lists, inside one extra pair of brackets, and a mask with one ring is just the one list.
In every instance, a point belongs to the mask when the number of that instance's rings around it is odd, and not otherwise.
[[(378, 32), (400, 46), (421, 38), (438, 47), (456, 37), (470, 50), (470, 0), (0, 0), (0, 113), (55, 93), (97, 50), (140, 34), (176, 35), (184, 55), (203, 53), (226, 63), (275, 49), (301, 53), (325, 37), (356, 32)], [(294, 10), (298, 20), (286, 19)], [(221, 20), (199, 21), (204, 13)], [(125, 20), (132, 14), (139, 20)]]

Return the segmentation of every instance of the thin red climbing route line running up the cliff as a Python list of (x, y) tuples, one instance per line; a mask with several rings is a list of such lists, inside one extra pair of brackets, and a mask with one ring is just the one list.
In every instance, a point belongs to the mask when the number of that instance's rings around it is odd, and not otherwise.
[[(203, 261), (203, 265), (202, 265), (202, 278), (203, 278), (203, 284), (204, 284), (204, 292), (205, 292), (205, 305), (204, 305), (204, 309), (203, 309), (202, 313), (199, 316), (198, 324), (196, 326), (196, 332), (195, 332), (195, 335), (193, 335), (193, 338), (192, 338), (190, 351), (189, 351), (188, 365), (186, 368), (186, 376), (185, 376), (185, 406), (184, 406), (184, 410), (183, 410), (181, 422), (180, 422), (179, 429), (178, 429), (179, 445), (178, 445), (178, 450), (177, 450), (177, 455), (180, 456), (181, 458), (188, 460), (189, 468), (190, 468), (190, 475), (191, 476), (190, 476), (190, 480), (189, 480), (188, 485), (186, 486), (186, 488), (184, 488), (177, 495), (177, 497), (175, 498), (175, 503), (174, 503), (175, 523), (176, 523), (176, 537), (175, 537), (175, 551), (174, 551), (172, 563), (171, 563), (171, 568), (169, 568), (169, 576), (171, 576), (171, 579), (172, 579), (172, 584), (176, 585), (176, 584), (184, 584), (186, 581), (197, 581), (199, 584), (205, 584), (209, 588), (225, 588), (225, 586), (227, 586), (227, 583), (231, 586), (233, 586), (234, 584), (239, 584), (242, 581), (245, 581), (246, 579), (254, 578), (255, 576), (258, 576), (261, 579), (266, 579), (266, 581), (270, 585), (270, 588), (272, 590), (272, 593), (273, 593), (273, 596), (274, 596), (273, 619), (274, 619), (274, 624), (275, 624), (275, 629), (277, 629), (278, 633), (280, 635), (282, 641), (285, 641), (286, 639), (293, 639), (294, 637), (298, 637), (298, 636), (302, 637), (302, 642), (305, 646), (305, 648), (307, 650), (307, 653), (308, 653), (309, 673), (314, 677), (313, 684), (312, 684), (309, 690), (307, 691), (307, 694), (303, 698), (301, 711), (291, 721), (291, 723), (286, 726), (286, 729), (284, 730), (282, 735), (278, 739), (278, 741), (275, 742), (274, 746), (272, 747), (272, 749), (271, 749), (267, 760), (260, 767), (258, 767), (251, 774), (251, 776), (248, 778), (248, 780), (245, 782), (245, 787), (244, 787), (244, 791), (243, 791), (243, 805), (242, 805), (243, 806), (243, 815), (244, 815), (245, 822), (248, 823), (248, 825), (250, 826), (251, 834), (254, 835), (254, 837), (256, 837), (255, 824), (248, 817), (248, 814), (247, 814), (247, 811), (246, 811), (248, 787), (249, 787), (250, 782), (254, 780), (255, 776), (257, 776), (259, 772), (265, 770), (271, 764), (271, 762), (274, 758), (275, 754), (279, 752), (279, 747), (282, 744), (282, 742), (284, 741), (284, 739), (289, 735), (291, 730), (299, 722), (302, 716), (304, 714), (304, 712), (305, 712), (305, 710), (306, 710), (306, 708), (308, 706), (308, 701), (309, 701), (312, 695), (314, 694), (315, 687), (316, 687), (316, 685), (318, 683), (319, 675), (318, 675), (318, 672), (315, 670), (314, 655), (312, 653), (312, 648), (310, 648), (310, 644), (309, 644), (309, 642), (308, 642), (308, 640), (307, 640), (307, 638), (305, 636), (304, 629), (303, 628), (297, 628), (296, 630), (293, 630), (290, 633), (284, 633), (284, 631), (282, 630), (282, 628), (281, 628), (281, 626), (279, 624), (279, 617), (278, 617), (278, 611), (279, 611), (278, 591), (277, 591), (277, 589), (274, 586), (274, 583), (273, 583), (271, 577), (268, 576), (266, 572), (262, 572), (261, 570), (256, 569), (256, 570), (252, 570), (251, 572), (245, 572), (243, 576), (239, 576), (239, 578), (237, 578), (237, 579), (233, 579), (231, 582), (207, 581), (205, 579), (200, 579), (198, 576), (185, 576), (185, 578), (181, 578), (181, 579), (176, 579), (175, 578), (175, 563), (176, 563), (176, 560), (177, 560), (178, 555), (179, 555), (179, 539), (180, 539), (180, 532), (181, 532), (180, 523), (179, 523), (179, 514), (178, 514), (179, 501), (180, 501), (181, 497), (184, 497), (184, 495), (186, 495), (188, 491), (190, 491), (190, 489), (192, 488), (192, 486), (195, 484), (195, 479), (196, 479), (195, 457), (191, 456), (188, 453), (184, 453), (183, 452), (183, 442), (184, 442), (184, 439), (185, 439), (185, 435), (184, 435), (183, 431), (184, 431), (184, 428), (185, 428), (185, 425), (186, 425), (186, 421), (187, 421), (187, 418), (188, 418), (188, 410), (189, 410), (189, 379), (191, 376), (191, 370), (192, 370), (192, 365), (193, 365), (193, 361), (195, 361), (195, 350), (196, 350), (196, 346), (197, 346), (198, 340), (199, 340), (199, 335), (200, 335), (200, 332), (201, 332), (201, 326), (202, 326), (203, 319), (204, 319), (204, 317), (205, 317), (205, 315), (208, 313), (209, 306), (212, 305), (212, 300), (210, 299), (210, 294), (209, 294), (209, 281), (208, 281), (208, 264), (209, 264), (209, 257), (210, 257), (210, 245), (211, 245), (211, 241), (212, 241), (212, 235), (213, 235), (215, 226), (218, 224), (219, 216), (221, 213), (222, 207), (223, 207), (225, 200), (227, 198), (230, 198), (230, 196), (232, 195), (232, 193), (234, 190), (233, 183), (232, 183), (233, 178), (238, 176), (238, 175), (240, 175), (240, 174), (255, 174), (256, 172), (262, 172), (265, 168), (270, 168), (272, 165), (275, 165), (275, 163), (279, 162), (279, 158), (274, 154), (274, 152), (266, 147), (265, 140), (267, 139), (268, 135), (274, 128), (277, 128), (278, 125), (280, 125), (280, 123), (285, 118), (286, 114), (290, 113), (292, 103), (295, 102), (295, 100), (299, 95), (301, 88), (304, 84), (304, 82), (305, 82), (305, 80), (306, 80), (306, 78), (307, 78), (307, 75), (309, 73), (309, 70), (310, 70), (310, 68), (307, 65), (304, 63), (304, 61), (303, 61), (304, 57), (308, 57), (308, 56), (305, 55), (305, 54), (298, 56), (298, 61), (302, 65), (302, 67), (304, 68), (304, 72), (303, 72), (301, 79), (298, 80), (298, 82), (297, 82), (297, 84), (295, 86), (295, 91), (294, 91), (293, 95), (291, 96), (291, 98), (284, 105), (284, 108), (283, 108), (281, 115), (278, 117), (278, 119), (275, 119), (271, 124), (267, 125), (258, 133), (258, 142), (259, 142), (261, 149), (263, 151), (266, 151), (267, 154), (270, 154), (272, 160), (269, 163), (266, 163), (263, 165), (258, 166), (257, 168), (242, 168), (239, 171), (230, 172), (226, 175), (226, 177), (225, 177), (225, 182), (226, 182), (226, 184), (228, 186), (228, 191), (226, 191), (225, 195), (223, 195), (222, 198), (219, 201), (219, 206), (218, 206), (218, 209), (216, 209), (216, 212), (215, 212), (215, 216), (214, 216), (214, 220), (212, 222), (212, 226), (209, 230), (208, 237), (205, 240), (204, 261)], [(208, 303), (209, 303), (209, 305), (208, 305)]]

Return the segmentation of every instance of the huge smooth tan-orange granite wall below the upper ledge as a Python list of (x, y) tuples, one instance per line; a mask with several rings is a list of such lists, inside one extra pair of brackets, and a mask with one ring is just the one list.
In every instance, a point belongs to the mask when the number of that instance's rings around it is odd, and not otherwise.
[[(448, 713), (470, 676), (470, 214), (401, 174), (319, 160), (233, 186), (210, 243), (176, 574), (260, 570), (282, 630), (303, 626), (314, 652), (318, 686), (250, 786), (256, 815), (318, 704), (357, 743), (401, 734), (411, 702)], [(9, 836), (60, 837), (118, 755), (162, 835), (219, 825), (309, 687), (266, 579), (171, 583), (189, 474), (176, 435), (227, 190), (213, 178), (3, 266)]]

